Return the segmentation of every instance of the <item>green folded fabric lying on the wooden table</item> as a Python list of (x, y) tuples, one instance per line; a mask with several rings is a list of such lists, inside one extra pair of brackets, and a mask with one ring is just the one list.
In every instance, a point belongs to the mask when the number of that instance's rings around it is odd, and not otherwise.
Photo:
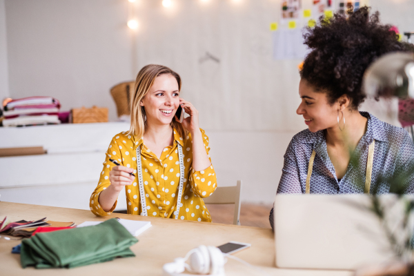
[(37, 233), (21, 242), (21, 266), (74, 268), (116, 257), (135, 257), (130, 246), (137, 242), (117, 219), (96, 226)]

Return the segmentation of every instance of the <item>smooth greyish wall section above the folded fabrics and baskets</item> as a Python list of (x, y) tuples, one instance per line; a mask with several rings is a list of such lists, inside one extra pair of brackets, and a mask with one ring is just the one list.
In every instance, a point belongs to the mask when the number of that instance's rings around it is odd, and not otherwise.
[(10, 95), (107, 106), (115, 119), (109, 89), (132, 78), (127, 3), (6, 0)]

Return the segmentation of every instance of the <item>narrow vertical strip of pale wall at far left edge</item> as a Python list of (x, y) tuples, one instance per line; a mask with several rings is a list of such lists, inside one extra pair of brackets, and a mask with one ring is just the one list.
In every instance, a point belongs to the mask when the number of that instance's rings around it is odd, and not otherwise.
[(6, 9), (4, 4), (4, 0), (0, 0), (0, 101), (9, 97)]

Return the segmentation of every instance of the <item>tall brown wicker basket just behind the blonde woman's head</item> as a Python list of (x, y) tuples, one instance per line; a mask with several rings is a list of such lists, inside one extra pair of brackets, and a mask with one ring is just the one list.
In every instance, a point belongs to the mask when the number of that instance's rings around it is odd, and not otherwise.
[(110, 95), (117, 105), (118, 117), (131, 114), (130, 102), (134, 95), (134, 86), (134, 81), (126, 81), (110, 88)]

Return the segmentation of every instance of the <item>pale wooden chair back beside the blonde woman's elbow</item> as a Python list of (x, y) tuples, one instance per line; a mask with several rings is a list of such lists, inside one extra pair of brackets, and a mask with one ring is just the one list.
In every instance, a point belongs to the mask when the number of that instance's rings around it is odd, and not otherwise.
[(235, 204), (235, 217), (233, 224), (240, 225), (240, 194), (242, 180), (237, 180), (236, 186), (217, 187), (213, 195), (203, 199), (205, 204)]

